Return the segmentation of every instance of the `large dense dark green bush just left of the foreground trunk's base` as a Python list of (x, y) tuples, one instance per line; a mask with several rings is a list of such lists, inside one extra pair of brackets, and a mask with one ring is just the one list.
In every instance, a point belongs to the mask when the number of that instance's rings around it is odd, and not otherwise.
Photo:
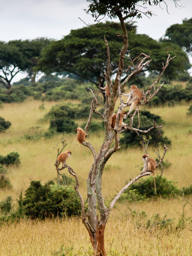
[(31, 219), (72, 216), (81, 212), (80, 200), (74, 188), (58, 188), (51, 181), (44, 186), (40, 181), (31, 181), (19, 204), (23, 214)]

